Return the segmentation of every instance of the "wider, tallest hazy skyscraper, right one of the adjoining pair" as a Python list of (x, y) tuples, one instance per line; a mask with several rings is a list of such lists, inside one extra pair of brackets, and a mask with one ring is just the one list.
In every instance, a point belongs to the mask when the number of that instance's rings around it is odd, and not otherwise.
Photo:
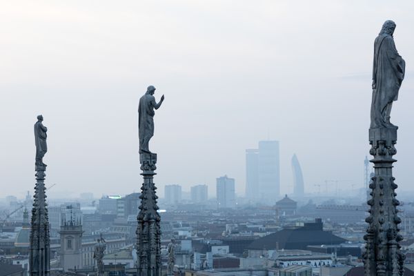
[(279, 197), (279, 163), (279, 141), (259, 141), (259, 193), (263, 199)]

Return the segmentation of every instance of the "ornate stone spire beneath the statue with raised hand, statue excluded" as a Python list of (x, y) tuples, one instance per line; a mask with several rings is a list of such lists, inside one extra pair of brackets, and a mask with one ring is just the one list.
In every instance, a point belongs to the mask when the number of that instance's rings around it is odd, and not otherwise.
[(161, 217), (157, 213), (157, 187), (153, 182), (157, 167), (156, 153), (141, 153), (141, 204), (137, 216), (137, 276), (161, 276)]

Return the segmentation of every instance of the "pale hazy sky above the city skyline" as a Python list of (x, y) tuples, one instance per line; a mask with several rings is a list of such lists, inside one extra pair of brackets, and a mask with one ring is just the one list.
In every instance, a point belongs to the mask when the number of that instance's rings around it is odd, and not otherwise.
[(49, 199), (139, 191), (137, 105), (150, 84), (166, 97), (150, 142), (161, 197), (165, 184), (215, 195), (224, 174), (244, 195), (245, 149), (268, 138), (280, 141), (282, 193), (293, 191), (294, 153), (307, 192), (326, 179), (362, 187), (386, 19), (407, 64), (391, 114), (395, 177), (400, 193), (414, 190), (413, 10), (411, 0), (1, 1), (0, 197), (32, 193), (39, 114)]

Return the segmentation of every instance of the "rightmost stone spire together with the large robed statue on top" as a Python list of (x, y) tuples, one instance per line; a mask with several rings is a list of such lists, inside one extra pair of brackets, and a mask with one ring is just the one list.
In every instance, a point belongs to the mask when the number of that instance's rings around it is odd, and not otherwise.
[(397, 127), (390, 123), (391, 105), (397, 99), (404, 78), (404, 60), (395, 50), (393, 30), (395, 23), (386, 21), (375, 39), (373, 67), (373, 102), (371, 106), (371, 128), (369, 143), (373, 156), (374, 175), (369, 188), (369, 216), (366, 229), (364, 275), (366, 276), (402, 276), (404, 274), (405, 255), (401, 252), (402, 241), (400, 217), (397, 213), (395, 178), (393, 177), (393, 155), (397, 153)]

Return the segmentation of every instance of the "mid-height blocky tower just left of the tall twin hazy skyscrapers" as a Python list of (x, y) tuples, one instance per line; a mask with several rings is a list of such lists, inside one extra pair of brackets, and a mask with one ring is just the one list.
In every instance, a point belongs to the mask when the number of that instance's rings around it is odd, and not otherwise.
[(217, 178), (217, 208), (236, 207), (235, 179), (224, 177)]

